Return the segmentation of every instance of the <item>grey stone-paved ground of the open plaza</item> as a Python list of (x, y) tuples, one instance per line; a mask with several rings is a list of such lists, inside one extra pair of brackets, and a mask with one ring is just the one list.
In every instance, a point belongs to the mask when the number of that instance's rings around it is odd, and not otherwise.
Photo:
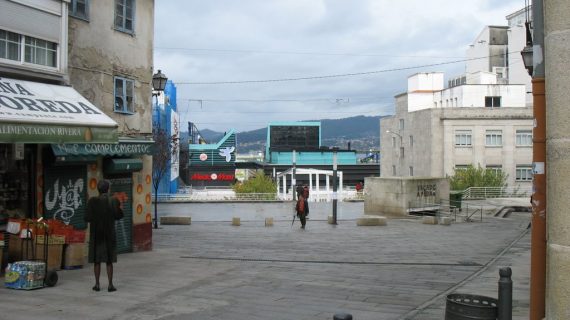
[[(218, 211), (229, 217), (230, 207)], [(90, 267), (60, 271), (53, 288), (0, 288), (0, 319), (443, 319), (451, 292), (496, 298), (502, 266), (513, 269), (513, 319), (528, 318), (529, 213), (357, 227), (360, 208), (346, 205), (333, 226), (314, 206), (304, 231), (288, 213), (273, 227), (259, 217), (163, 226), (153, 251), (119, 256), (117, 292), (104, 290), (104, 271), (101, 292)]]

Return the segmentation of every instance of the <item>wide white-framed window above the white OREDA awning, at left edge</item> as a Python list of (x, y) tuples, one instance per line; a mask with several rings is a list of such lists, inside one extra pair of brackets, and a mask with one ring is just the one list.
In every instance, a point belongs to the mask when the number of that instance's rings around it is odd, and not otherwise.
[(57, 67), (57, 43), (0, 30), (0, 59)]

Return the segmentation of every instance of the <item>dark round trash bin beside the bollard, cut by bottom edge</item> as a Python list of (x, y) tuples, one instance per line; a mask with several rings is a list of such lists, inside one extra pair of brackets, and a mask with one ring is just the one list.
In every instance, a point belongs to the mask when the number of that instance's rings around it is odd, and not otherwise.
[(497, 303), (495, 298), (452, 293), (447, 295), (445, 320), (495, 320), (498, 313)]

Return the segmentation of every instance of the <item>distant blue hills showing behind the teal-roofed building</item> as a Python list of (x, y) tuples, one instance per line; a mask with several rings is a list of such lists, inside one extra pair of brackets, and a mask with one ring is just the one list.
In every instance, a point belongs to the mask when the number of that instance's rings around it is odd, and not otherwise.
[[(341, 149), (348, 147), (357, 151), (377, 150), (380, 146), (380, 116), (357, 116), (344, 119), (322, 119), (311, 120), (320, 121), (322, 129), (323, 146), (337, 146)], [(223, 132), (216, 132), (209, 129), (200, 130), (202, 137), (208, 143), (218, 142), (224, 135)], [(257, 153), (265, 151), (267, 139), (267, 127), (238, 132), (237, 151), (240, 154)]]

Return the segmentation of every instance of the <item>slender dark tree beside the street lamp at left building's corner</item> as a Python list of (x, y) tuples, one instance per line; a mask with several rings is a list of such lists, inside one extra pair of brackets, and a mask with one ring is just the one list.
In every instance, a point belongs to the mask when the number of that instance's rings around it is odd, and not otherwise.
[(178, 154), (178, 136), (170, 136), (168, 132), (155, 125), (152, 138), (152, 186), (154, 188), (154, 228), (158, 229), (158, 187), (164, 177), (168, 164)]

